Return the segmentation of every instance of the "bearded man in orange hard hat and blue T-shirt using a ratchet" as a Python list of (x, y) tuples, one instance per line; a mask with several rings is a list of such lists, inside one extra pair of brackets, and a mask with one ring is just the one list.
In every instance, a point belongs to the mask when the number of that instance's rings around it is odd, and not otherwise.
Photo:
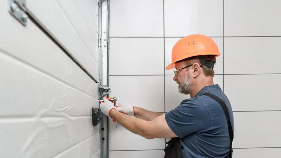
[[(180, 137), (185, 158), (229, 157), (232, 142), (229, 131), (234, 129), (232, 108), (219, 85), (213, 82), (215, 57), (219, 55), (218, 47), (210, 37), (198, 34), (183, 37), (174, 45), (172, 63), (166, 69), (177, 69), (174, 80), (179, 85), (178, 90), (190, 94), (190, 99), (166, 114), (134, 106), (115, 108), (107, 99), (101, 103), (101, 111), (127, 130), (147, 139)], [(226, 105), (225, 111), (221, 103), (206, 93), (220, 98)], [(224, 113), (227, 111), (228, 123)]]

